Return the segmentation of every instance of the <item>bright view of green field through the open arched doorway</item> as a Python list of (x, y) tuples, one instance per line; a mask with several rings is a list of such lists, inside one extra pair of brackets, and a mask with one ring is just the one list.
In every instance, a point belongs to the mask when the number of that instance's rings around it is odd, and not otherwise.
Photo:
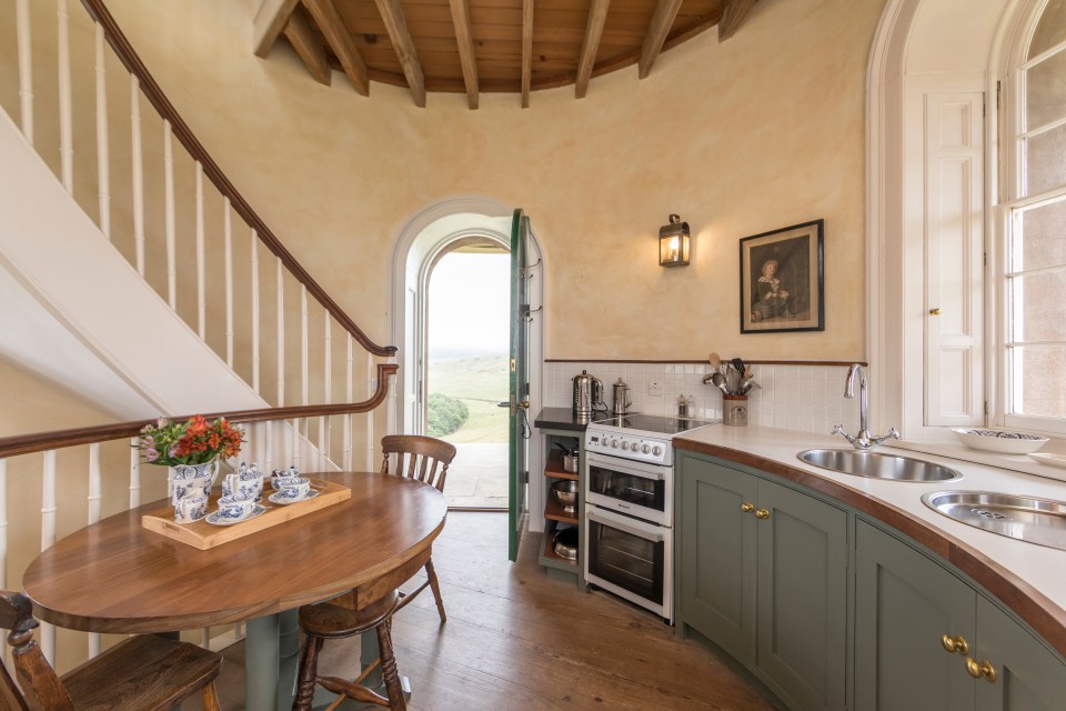
[(433, 267), (426, 304), (425, 431), (459, 450), (450, 507), (506, 508), (510, 254), (487, 241)]

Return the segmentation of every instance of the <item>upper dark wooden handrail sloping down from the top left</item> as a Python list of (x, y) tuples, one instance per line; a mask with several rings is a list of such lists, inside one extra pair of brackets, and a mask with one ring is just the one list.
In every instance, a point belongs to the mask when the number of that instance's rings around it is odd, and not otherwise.
[(208, 154), (208, 151), (193, 134), (189, 124), (187, 124), (178, 113), (178, 110), (167, 98), (167, 94), (163, 93), (163, 90), (133, 50), (125, 34), (114, 21), (114, 18), (111, 17), (108, 8), (103, 4), (103, 0), (81, 0), (81, 3), (86, 7), (89, 14), (103, 28), (108, 43), (114, 50), (114, 53), (118, 54), (127, 70), (140, 81), (141, 91), (144, 92), (148, 100), (155, 107), (155, 110), (162, 118), (170, 121), (174, 136), (181, 141), (181, 144), (185, 147), (185, 150), (189, 151), (189, 154), (192, 156), (193, 159), (203, 166), (203, 172), (208, 179), (214, 183), (219, 192), (230, 199), (233, 209), (237, 210), (237, 213), (241, 216), (249, 227), (255, 230), (259, 239), (266, 246), (266, 249), (281, 260), (282, 264), (295, 277), (296, 281), (306, 287), (308, 292), (311, 293), (311, 296), (329, 311), (330, 316), (336, 319), (344, 330), (351, 333), (352, 338), (366, 351), (381, 357), (395, 356), (398, 350), (395, 346), (378, 346), (363, 333), (362, 329), (355, 324), (351, 317), (341, 310), (336, 302), (333, 301), (325, 290), (311, 278), (311, 274), (309, 274), (289, 250), (285, 249), (271, 229), (266, 227), (262, 218), (252, 210), (251, 206), (248, 204), (237, 188), (233, 187), (233, 183), (225, 177), (225, 173), (222, 172), (222, 169), (219, 168), (218, 163)]

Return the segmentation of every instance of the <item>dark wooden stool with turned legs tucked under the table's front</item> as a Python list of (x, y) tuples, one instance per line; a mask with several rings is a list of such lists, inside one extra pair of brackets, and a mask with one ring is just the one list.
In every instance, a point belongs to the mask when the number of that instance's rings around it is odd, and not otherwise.
[[(303, 654), (300, 659), (300, 675), (296, 687), (296, 698), (293, 701), (293, 711), (310, 711), (314, 699), (314, 687), (321, 684), (323, 689), (339, 694), (333, 709), (346, 698), (388, 707), (392, 711), (406, 711), (403, 700), (403, 689), (400, 687), (400, 672), (396, 671), (396, 660), (392, 652), (392, 613), (396, 610), (400, 595), (393, 590), (381, 600), (362, 609), (352, 610), (331, 602), (320, 602), (300, 608), (300, 629), (305, 635)], [(319, 677), (319, 651), (328, 639), (342, 639), (378, 630), (378, 645), (381, 648), (381, 658), (366, 667), (363, 673), (354, 681), (345, 681), (336, 677)], [(378, 692), (362, 684), (363, 680), (381, 663), (381, 674), (385, 680), (384, 698)]]

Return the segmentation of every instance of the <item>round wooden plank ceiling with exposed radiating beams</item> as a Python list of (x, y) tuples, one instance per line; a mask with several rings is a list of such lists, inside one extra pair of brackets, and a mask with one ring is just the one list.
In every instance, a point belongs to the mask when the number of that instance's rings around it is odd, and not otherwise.
[(360, 94), (370, 82), (426, 92), (521, 94), (590, 82), (638, 64), (644, 79), (658, 54), (717, 26), (732, 37), (758, 0), (262, 0), (254, 52), (278, 38), (295, 49), (315, 81), (344, 72)]

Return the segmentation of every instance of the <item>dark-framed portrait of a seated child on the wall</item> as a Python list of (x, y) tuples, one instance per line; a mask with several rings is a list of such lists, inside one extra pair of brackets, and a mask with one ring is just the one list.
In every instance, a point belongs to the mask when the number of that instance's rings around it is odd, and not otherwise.
[(741, 333), (825, 330), (824, 223), (741, 240)]

